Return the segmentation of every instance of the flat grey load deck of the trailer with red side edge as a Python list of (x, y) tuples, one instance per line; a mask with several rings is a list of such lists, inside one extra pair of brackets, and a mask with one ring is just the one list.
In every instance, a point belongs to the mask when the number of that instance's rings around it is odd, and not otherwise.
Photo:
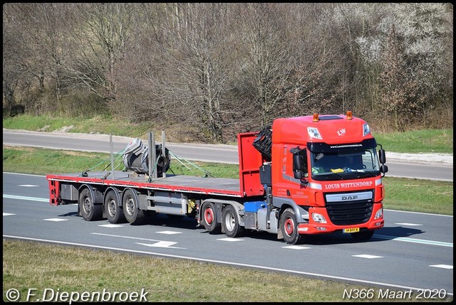
[[(109, 176), (107, 176), (109, 174)], [(106, 177), (107, 176), (107, 177)], [(105, 178), (106, 177), (106, 178)], [(185, 175), (167, 175), (166, 177), (151, 178), (143, 174), (124, 171), (115, 171), (114, 179), (110, 172), (90, 172), (88, 176), (80, 173), (68, 173), (61, 175), (48, 175), (48, 181), (60, 181), (61, 183), (87, 183), (101, 186), (122, 186), (145, 188), (157, 191), (173, 191), (185, 193), (217, 194), (224, 196), (242, 197), (239, 179), (212, 178)]]

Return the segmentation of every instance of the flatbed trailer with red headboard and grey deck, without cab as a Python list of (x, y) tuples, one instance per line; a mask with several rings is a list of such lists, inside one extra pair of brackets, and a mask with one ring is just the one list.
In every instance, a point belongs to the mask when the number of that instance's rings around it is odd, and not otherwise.
[(165, 213), (196, 216), (198, 225), (202, 222), (210, 232), (224, 232), (220, 219), (225, 205), (243, 210), (246, 201), (264, 196), (259, 179), (262, 157), (252, 145), (255, 137), (252, 132), (238, 135), (238, 179), (186, 175), (151, 178), (131, 171), (49, 174), (50, 203), (78, 203), (78, 215), (88, 221), (107, 218), (110, 223), (126, 220), (136, 224), (150, 213)]

